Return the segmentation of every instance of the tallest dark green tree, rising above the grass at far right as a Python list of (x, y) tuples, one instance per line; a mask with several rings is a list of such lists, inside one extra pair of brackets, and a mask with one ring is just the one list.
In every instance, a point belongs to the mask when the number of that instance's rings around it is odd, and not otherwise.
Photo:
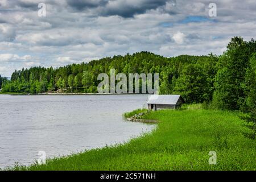
[(245, 107), (246, 93), (242, 88), (249, 59), (256, 51), (254, 40), (232, 38), (228, 50), (220, 57), (215, 78), (213, 103), (220, 109), (238, 110)]

